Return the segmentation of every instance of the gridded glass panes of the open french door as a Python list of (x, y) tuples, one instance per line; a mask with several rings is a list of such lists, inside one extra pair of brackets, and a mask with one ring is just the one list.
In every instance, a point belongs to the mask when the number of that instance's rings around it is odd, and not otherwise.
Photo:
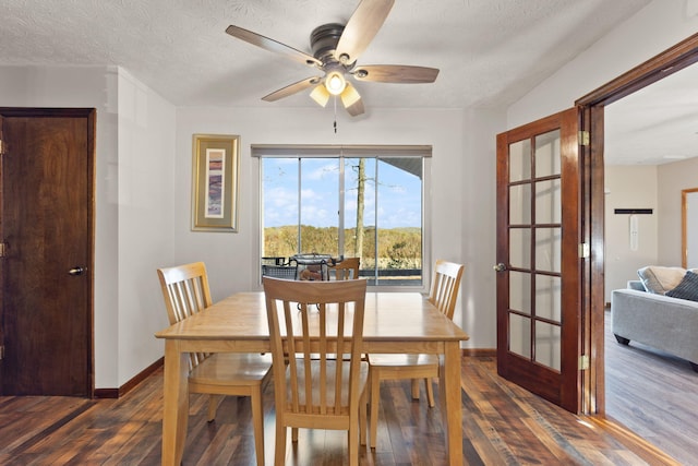
[(509, 144), (509, 351), (561, 370), (559, 130)]

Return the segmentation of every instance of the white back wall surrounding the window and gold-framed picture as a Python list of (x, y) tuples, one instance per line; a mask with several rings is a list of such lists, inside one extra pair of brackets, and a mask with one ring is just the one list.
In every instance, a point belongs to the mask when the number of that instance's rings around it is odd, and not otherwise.
[[(461, 309), (454, 318), (473, 335), (468, 346), (493, 348), (494, 135), (504, 122), (457, 109), (370, 109), (350, 120), (321, 108), (179, 108), (177, 110), (176, 244), (178, 260), (203, 260), (214, 300), (258, 289), (258, 164), (251, 144), (431, 144), (433, 259), (466, 263)], [(497, 127), (500, 124), (500, 128)], [(239, 232), (191, 231), (192, 134), (238, 134), (241, 140)], [(478, 138), (486, 135), (485, 138)], [(476, 220), (477, 219), (477, 220)], [(464, 322), (465, 320), (465, 322)], [(478, 325), (476, 328), (474, 325)], [(474, 338), (474, 335), (478, 338)]]

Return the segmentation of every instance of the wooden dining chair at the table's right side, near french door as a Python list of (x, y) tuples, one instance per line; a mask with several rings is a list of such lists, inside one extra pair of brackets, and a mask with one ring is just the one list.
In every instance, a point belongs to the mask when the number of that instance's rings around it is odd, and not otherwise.
[[(465, 266), (443, 260), (436, 261), (434, 278), (429, 300), (448, 319), (454, 318), (460, 278)], [(371, 368), (371, 441), (375, 449), (376, 428), (378, 423), (378, 399), (382, 380), (412, 380), (412, 398), (419, 399), (419, 381), (424, 380), (426, 399), (434, 407), (432, 379), (438, 377), (438, 356), (436, 355), (373, 355), (369, 354)]]

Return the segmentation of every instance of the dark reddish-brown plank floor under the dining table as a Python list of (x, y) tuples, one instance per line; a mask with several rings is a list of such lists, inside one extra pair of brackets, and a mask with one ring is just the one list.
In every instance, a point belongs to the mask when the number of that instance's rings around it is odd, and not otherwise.
[[(602, 423), (498, 378), (494, 358), (464, 358), (462, 386), (466, 464), (672, 464), (648, 459)], [(191, 397), (183, 464), (255, 464), (249, 401), (226, 398), (212, 423), (206, 422), (205, 402), (201, 395)], [(266, 464), (274, 459), (273, 404), (269, 384), (264, 401)], [(120, 399), (0, 397), (0, 464), (158, 465), (161, 409), (161, 369)], [(441, 413), (428, 407), (424, 393), (413, 402), (409, 382), (385, 382), (380, 416), (377, 447), (362, 450), (362, 465), (445, 464)], [(301, 430), (299, 437), (298, 444), (289, 440), (287, 465), (347, 464), (344, 432)]]

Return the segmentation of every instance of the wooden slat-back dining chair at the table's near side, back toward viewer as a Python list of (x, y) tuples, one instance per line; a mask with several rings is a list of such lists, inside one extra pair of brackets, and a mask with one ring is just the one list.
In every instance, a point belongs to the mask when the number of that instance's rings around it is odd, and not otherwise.
[(274, 358), (275, 464), (285, 462), (290, 427), (293, 442), (299, 428), (347, 430), (349, 464), (358, 465), (366, 434), (369, 366), (361, 359), (366, 280), (264, 277), (263, 284)]

